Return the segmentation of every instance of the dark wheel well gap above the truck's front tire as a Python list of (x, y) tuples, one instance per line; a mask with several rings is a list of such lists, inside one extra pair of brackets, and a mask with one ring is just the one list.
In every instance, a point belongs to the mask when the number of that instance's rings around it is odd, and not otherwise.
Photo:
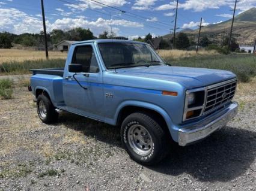
[(154, 111), (154, 110), (151, 110), (148, 108), (144, 108), (144, 107), (126, 106), (126, 107), (122, 108), (118, 114), (117, 126), (120, 126), (121, 123), (123, 122), (123, 120), (127, 116), (129, 116), (130, 114), (135, 113), (135, 112), (143, 112), (143, 113), (146, 113), (146, 114), (150, 115), (151, 117), (153, 117), (154, 120), (156, 120), (159, 123), (159, 125), (163, 128), (163, 130), (166, 133), (168, 133), (168, 135), (171, 137), (168, 126), (167, 126), (163, 116), (161, 114), (159, 114), (157, 111)]

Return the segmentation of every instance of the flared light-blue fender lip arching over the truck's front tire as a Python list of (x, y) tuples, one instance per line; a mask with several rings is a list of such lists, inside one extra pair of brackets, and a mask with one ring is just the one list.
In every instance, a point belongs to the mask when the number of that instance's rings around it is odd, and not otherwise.
[(172, 119), (168, 115), (168, 113), (166, 113), (166, 111), (163, 110), (163, 108), (159, 107), (158, 105), (150, 104), (148, 102), (132, 101), (132, 100), (122, 102), (118, 106), (117, 111), (115, 113), (115, 119), (114, 119), (115, 124), (117, 124), (118, 114), (124, 107), (127, 107), (127, 106), (142, 107), (142, 108), (153, 110), (153, 111), (156, 111), (157, 113), (159, 113), (163, 117), (163, 119), (165, 119), (165, 122), (168, 126), (168, 129), (169, 129), (172, 139), (176, 142), (178, 141), (178, 127), (174, 125), (174, 123), (172, 122)]

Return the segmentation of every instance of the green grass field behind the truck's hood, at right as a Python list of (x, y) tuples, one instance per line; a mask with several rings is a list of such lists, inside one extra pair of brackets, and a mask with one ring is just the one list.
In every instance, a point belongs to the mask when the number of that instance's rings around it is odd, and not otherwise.
[(224, 69), (237, 75), (239, 81), (248, 82), (256, 75), (256, 56), (254, 54), (228, 54), (213, 56), (194, 56), (183, 59), (165, 57), (173, 66)]

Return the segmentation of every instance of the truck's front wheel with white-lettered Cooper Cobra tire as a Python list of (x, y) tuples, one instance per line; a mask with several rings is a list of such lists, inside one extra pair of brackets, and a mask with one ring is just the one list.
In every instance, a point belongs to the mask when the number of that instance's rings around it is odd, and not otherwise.
[(121, 141), (130, 157), (142, 165), (153, 165), (168, 153), (165, 131), (146, 113), (133, 113), (121, 125)]

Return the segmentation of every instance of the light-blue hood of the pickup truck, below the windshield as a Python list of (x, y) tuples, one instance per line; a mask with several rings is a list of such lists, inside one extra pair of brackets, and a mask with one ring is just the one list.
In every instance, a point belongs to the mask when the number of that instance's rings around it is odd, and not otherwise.
[(209, 86), (210, 84), (236, 78), (230, 71), (177, 66), (150, 66), (117, 69), (119, 74), (180, 83), (186, 88)]

